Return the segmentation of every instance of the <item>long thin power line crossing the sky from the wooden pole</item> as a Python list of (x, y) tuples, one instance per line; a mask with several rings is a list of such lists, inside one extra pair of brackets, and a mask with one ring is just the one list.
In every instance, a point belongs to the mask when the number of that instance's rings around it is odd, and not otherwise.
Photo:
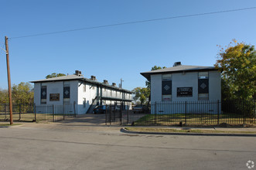
[(56, 31), (56, 32), (45, 32), (45, 33), (39, 33), (39, 34), (32, 34), (27, 36), (15, 36), (11, 37), (9, 39), (21, 39), (26, 37), (32, 37), (32, 36), (46, 36), (51, 34), (58, 34), (63, 32), (75, 32), (75, 31), (81, 31), (86, 29), (100, 29), (104, 27), (111, 27), (111, 26), (122, 26), (122, 25), (128, 25), (128, 24), (135, 24), (135, 23), (142, 23), (142, 22), (155, 22), (160, 20), (167, 20), (167, 19), (179, 19), (179, 18), (186, 18), (186, 17), (193, 17), (193, 16), (200, 16), (200, 15), (213, 15), (213, 14), (219, 14), (219, 13), (226, 13), (226, 12), (237, 12), (237, 11), (244, 11), (244, 10), (250, 10), (255, 9), (256, 7), (250, 7), (250, 8), (237, 8), (237, 9), (230, 9), (225, 11), (218, 11), (218, 12), (205, 12), (205, 13), (199, 13), (199, 14), (191, 14), (191, 15), (178, 15), (178, 16), (171, 16), (166, 18), (160, 18), (160, 19), (147, 19), (147, 20), (140, 20), (135, 22), (122, 22), (122, 23), (116, 23), (116, 24), (110, 24), (110, 25), (104, 25), (104, 26), (92, 26), (92, 27), (86, 27), (81, 29), (69, 29), (64, 31)]

